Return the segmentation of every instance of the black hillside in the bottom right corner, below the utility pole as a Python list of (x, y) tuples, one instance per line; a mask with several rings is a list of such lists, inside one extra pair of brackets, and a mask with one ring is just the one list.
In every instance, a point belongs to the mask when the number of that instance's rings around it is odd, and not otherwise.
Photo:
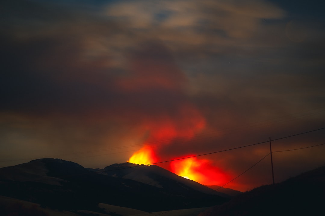
[(200, 216), (325, 215), (325, 166), (245, 192)]

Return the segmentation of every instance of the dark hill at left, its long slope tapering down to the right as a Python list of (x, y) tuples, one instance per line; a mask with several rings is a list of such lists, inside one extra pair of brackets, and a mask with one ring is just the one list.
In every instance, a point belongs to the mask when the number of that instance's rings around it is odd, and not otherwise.
[(61, 159), (38, 159), (0, 169), (0, 195), (58, 210), (100, 212), (98, 203), (147, 212), (213, 206), (229, 199), (183, 183), (157, 188), (132, 179), (100, 175)]

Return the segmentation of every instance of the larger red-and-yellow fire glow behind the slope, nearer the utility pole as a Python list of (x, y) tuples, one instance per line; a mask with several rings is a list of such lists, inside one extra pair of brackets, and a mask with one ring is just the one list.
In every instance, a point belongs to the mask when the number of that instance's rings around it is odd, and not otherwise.
[(191, 157), (172, 161), (170, 167), (171, 172), (178, 176), (191, 179), (202, 185), (223, 185), (229, 181), (229, 176), (220, 168), (213, 166), (207, 159)]

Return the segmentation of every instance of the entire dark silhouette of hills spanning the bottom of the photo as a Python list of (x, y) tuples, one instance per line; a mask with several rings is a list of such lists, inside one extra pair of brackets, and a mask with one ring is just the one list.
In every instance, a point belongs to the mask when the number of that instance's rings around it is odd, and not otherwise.
[[(17, 212), (35, 212), (35, 215), (43, 215), (42, 208), (68, 210), (79, 215), (105, 215), (108, 208), (121, 206), (125, 207), (124, 211), (177, 210), (180, 213), (181, 209), (214, 206), (204, 212), (205, 208), (196, 210), (201, 212), (200, 216), (240, 216), (322, 215), (325, 166), (232, 199), (208, 194), (209, 191), (203, 185), (154, 165), (124, 163), (90, 169), (70, 161), (44, 158), (0, 168), (1, 200), (25, 200), (21, 203), (32, 202), (41, 207), (0, 203), (0, 212), (19, 207)], [(186, 215), (184, 212), (182, 215)]]

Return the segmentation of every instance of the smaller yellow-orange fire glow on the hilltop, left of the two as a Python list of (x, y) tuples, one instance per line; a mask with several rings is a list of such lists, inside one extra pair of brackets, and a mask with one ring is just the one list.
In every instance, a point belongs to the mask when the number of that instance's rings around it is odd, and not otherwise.
[(127, 161), (133, 164), (153, 164), (157, 162), (157, 157), (149, 147), (142, 147), (139, 151), (133, 153)]

